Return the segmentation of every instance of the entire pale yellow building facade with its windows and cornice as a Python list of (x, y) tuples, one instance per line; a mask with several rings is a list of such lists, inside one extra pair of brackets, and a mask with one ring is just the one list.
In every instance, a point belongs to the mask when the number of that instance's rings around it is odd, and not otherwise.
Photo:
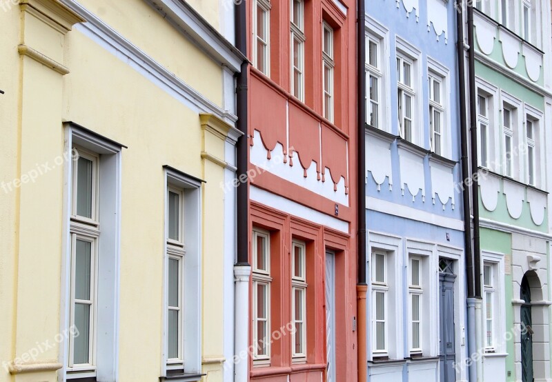
[(230, 381), (233, 3), (0, 1), (0, 382)]

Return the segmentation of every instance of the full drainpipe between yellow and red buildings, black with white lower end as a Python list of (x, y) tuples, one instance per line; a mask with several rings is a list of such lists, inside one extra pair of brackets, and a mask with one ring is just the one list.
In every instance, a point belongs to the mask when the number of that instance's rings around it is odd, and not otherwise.
[[(236, 48), (247, 57), (247, 14), (246, 1), (236, 2), (235, 5), (235, 37)], [(242, 62), (242, 68), (237, 76), (236, 86), (236, 114), (239, 131), (244, 134), (236, 143), (236, 178), (247, 178), (248, 166), (248, 128), (247, 128), (247, 76), (248, 61)], [(245, 174), (245, 175), (244, 175)], [(243, 176), (243, 177), (242, 177)], [(234, 381), (248, 381), (249, 360), (240, 358), (248, 349), (249, 332), (249, 278), (251, 267), (248, 263), (248, 215), (249, 215), (249, 184), (239, 181), (236, 188), (236, 243), (237, 262), (234, 265), (235, 278), (235, 320), (234, 320)]]

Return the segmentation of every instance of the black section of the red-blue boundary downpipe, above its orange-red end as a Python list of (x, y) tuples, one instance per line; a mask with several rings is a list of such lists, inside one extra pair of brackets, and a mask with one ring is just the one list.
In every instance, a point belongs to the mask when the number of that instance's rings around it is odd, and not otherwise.
[(366, 62), (366, 48), (364, 41), (364, 25), (366, 16), (364, 15), (364, 0), (357, 0), (357, 106), (358, 106), (358, 128), (357, 128), (357, 181), (358, 181), (358, 284), (366, 285), (366, 103), (364, 97), (366, 94), (366, 74), (364, 66)]

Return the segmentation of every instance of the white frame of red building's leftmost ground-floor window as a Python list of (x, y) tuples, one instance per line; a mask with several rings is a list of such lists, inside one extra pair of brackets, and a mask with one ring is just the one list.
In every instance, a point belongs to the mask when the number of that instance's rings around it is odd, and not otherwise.
[[(262, 237), (264, 239), (266, 254), (266, 270), (259, 269), (257, 263), (257, 238)], [(253, 228), (252, 235), (253, 250), (251, 254), (253, 256), (253, 365), (268, 365), (270, 364), (270, 283), (272, 277), (270, 277), (270, 232), (262, 230), (260, 228)], [(266, 285), (266, 338), (264, 345), (266, 346), (266, 354), (259, 354), (259, 348), (257, 347), (259, 333), (257, 332), (257, 322), (260, 320), (257, 317), (257, 285)]]

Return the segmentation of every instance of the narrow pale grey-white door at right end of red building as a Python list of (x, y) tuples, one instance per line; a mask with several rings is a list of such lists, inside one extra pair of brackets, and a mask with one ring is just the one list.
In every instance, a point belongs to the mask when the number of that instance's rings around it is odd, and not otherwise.
[(335, 254), (326, 252), (326, 381), (335, 382)]

